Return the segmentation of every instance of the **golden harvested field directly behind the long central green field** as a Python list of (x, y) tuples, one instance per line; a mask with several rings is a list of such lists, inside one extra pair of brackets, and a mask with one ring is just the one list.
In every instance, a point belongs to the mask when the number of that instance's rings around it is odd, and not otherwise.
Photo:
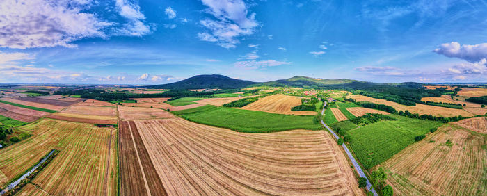
[(289, 95), (271, 95), (248, 104), (241, 109), (263, 111), (285, 115), (316, 115), (314, 111), (291, 111), (294, 106), (301, 105), (301, 98)]

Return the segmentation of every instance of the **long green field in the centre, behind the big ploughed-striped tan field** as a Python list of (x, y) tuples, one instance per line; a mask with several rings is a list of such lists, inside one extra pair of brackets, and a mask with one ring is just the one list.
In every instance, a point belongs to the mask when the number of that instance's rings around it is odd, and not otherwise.
[(173, 111), (172, 113), (192, 122), (248, 133), (321, 129), (319, 123), (314, 120), (314, 116), (282, 115), (211, 105), (184, 111)]

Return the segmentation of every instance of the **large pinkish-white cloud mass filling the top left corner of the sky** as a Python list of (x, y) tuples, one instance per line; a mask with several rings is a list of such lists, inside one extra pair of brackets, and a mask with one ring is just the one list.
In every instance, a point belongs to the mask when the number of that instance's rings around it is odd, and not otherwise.
[(95, 1), (29, 0), (0, 1), (0, 47), (75, 47), (75, 40), (111, 35), (150, 33), (136, 3), (117, 0), (115, 7), (125, 23), (110, 22), (89, 13)]

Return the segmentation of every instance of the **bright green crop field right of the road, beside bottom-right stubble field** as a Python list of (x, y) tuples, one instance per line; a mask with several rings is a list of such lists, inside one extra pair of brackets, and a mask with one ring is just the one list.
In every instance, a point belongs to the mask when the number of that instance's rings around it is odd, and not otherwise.
[(415, 142), (415, 137), (429, 133), (442, 123), (392, 115), (397, 120), (385, 120), (347, 131), (351, 135), (353, 152), (365, 169), (370, 169)]

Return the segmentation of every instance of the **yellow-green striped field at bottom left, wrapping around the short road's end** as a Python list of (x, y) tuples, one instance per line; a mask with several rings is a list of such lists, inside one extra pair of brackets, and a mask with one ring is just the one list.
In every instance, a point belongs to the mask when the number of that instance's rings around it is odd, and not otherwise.
[[(116, 129), (49, 119), (21, 129), (33, 136), (0, 149), (0, 171), (9, 180), (58, 149), (58, 156), (33, 179), (41, 190), (49, 195), (117, 194)], [(22, 191), (38, 193), (29, 187)]]

